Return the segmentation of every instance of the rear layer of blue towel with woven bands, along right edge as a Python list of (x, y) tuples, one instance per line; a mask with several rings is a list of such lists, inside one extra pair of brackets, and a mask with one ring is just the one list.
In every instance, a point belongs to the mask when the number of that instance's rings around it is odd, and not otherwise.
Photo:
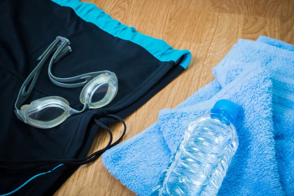
[(228, 65), (227, 59), (231, 59), (233, 64), (236, 61), (253, 62), (259, 59), (262, 65), (269, 69), (273, 83), (273, 123), (277, 168), (285, 194), (294, 195), (294, 46), (265, 36), (258, 38), (258, 41), (273, 46), (239, 40), (224, 60), (213, 68), (213, 73), (221, 86), (224, 86), (244, 69), (244, 64)]

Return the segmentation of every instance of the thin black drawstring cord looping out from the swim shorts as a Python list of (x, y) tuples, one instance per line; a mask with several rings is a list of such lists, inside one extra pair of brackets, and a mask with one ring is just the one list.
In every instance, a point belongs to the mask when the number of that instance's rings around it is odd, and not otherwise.
[(9, 167), (9, 166), (0, 165), (0, 169), (23, 171), (23, 170), (32, 170), (32, 169), (35, 169), (35, 168), (38, 168), (38, 167), (41, 167), (41, 166), (45, 166), (45, 165), (49, 165), (49, 164), (52, 164), (52, 163), (59, 163), (59, 164), (66, 164), (66, 165), (85, 165), (85, 164), (91, 163), (91, 162), (95, 161), (96, 159), (98, 159), (98, 157), (101, 156), (101, 154), (103, 152), (105, 152), (107, 149), (117, 145), (123, 139), (123, 136), (124, 136), (125, 131), (126, 131), (126, 124), (124, 123), (122, 118), (120, 118), (120, 117), (118, 117), (116, 115), (112, 115), (112, 114), (108, 114), (108, 115), (106, 115), (106, 117), (111, 117), (111, 118), (117, 119), (118, 121), (122, 122), (123, 126), (124, 126), (123, 134), (121, 135), (121, 137), (116, 142), (111, 144), (112, 139), (113, 139), (111, 130), (107, 126), (105, 126), (104, 124), (98, 122), (97, 119), (95, 119), (95, 123), (98, 126), (100, 126), (100, 127), (104, 128), (105, 130), (107, 130), (107, 132), (109, 133), (109, 136), (110, 136), (110, 140), (109, 140), (106, 147), (94, 152), (93, 154), (91, 154), (91, 155), (89, 155), (89, 156), (87, 156), (85, 158), (82, 158), (82, 159), (35, 159), (35, 160), (29, 160), (29, 161), (13, 161), (13, 160), (0, 159), (0, 163), (6, 163), (6, 164), (10, 163), (10, 164), (16, 164), (17, 165), (17, 164), (38, 163), (36, 165), (27, 166), (27, 167)]

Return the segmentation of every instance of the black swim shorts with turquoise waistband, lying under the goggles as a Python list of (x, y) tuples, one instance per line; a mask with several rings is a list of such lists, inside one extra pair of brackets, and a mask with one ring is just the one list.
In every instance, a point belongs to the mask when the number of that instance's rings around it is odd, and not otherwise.
[[(188, 50), (172, 49), (162, 40), (122, 25), (93, 4), (55, 2), (0, 1), (0, 90), (5, 111), (0, 119), (0, 159), (84, 158), (99, 129), (94, 118), (107, 125), (114, 119), (104, 118), (106, 114), (126, 117), (180, 74), (191, 59)], [(55, 76), (109, 70), (116, 73), (119, 89), (107, 106), (72, 116), (56, 127), (39, 129), (16, 118), (14, 103), (26, 77), (38, 64), (37, 58), (56, 36), (68, 38), (73, 51), (54, 65)], [(81, 89), (51, 83), (47, 64), (25, 104), (59, 96), (81, 110)], [(76, 169), (59, 164), (30, 171), (0, 169), (0, 195), (51, 195)]]

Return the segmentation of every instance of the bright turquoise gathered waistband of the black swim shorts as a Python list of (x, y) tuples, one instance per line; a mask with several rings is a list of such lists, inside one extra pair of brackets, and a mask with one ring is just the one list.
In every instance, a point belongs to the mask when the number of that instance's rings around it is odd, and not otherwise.
[(179, 64), (186, 69), (191, 61), (191, 52), (189, 50), (172, 49), (172, 47), (163, 40), (137, 32), (134, 27), (128, 27), (127, 25), (121, 24), (118, 20), (113, 20), (93, 3), (80, 2), (79, 0), (52, 1), (61, 6), (71, 7), (81, 19), (97, 25), (100, 29), (111, 35), (142, 46), (162, 62), (177, 62), (178, 59), (183, 56)]

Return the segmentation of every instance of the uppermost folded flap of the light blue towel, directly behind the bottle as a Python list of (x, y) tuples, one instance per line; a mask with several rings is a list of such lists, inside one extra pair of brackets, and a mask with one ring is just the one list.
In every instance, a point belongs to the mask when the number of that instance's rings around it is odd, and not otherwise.
[(201, 108), (210, 110), (222, 98), (233, 101), (241, 110), (235, 122), (239, 147), (219, 195), (281, 196), (283, 190), (274, 151), (270, 75), (265, 69), (254, 71), (256, 65), (248, 67), (212, 99), (181, 109), (160, 111), (160, 128), (174, 152), (188, 124), (202, 113)]

